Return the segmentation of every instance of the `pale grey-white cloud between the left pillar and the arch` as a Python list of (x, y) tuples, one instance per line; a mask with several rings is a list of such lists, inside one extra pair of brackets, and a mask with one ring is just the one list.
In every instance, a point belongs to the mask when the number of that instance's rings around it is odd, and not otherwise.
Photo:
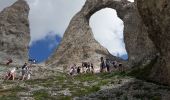
[(49, 31), (63, 36), (72, 17), (85, 0), (27, 0), (30, 5), (31, 43), (46, 37)]

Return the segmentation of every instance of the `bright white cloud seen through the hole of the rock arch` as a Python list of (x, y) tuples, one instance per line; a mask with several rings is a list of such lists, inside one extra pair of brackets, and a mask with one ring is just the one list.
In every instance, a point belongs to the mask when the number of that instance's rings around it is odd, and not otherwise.
[(114, 9), (105, 8), (90, 18), (95, 39), (113, 55), (127, 54), (123, 42), (123, 22)]

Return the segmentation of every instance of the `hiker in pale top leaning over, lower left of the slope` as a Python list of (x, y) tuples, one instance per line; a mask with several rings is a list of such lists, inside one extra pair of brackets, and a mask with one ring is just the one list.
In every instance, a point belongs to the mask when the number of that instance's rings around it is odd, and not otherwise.
[(16, 74), (16, 68), (14, 67), (6, 73), (5, 79), (6, 80), (10, 80), (10, 79), (15, 80), (15, 74)]

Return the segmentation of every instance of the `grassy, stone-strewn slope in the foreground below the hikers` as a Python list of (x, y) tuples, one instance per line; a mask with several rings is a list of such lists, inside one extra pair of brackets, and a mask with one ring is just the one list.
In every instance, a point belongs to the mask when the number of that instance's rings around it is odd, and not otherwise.
[(119, 72), (0, 81), (0, 100), (169, 100), (169, 94), (167, 86)]

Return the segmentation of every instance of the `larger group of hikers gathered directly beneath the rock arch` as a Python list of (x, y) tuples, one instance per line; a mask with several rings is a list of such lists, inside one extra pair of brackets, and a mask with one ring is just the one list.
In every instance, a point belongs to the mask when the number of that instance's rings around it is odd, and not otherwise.
[[(124, 71), (122, 63), (104, 59), (103, 57), (100, 58), (100, 72), (110, 72), (112, 67), (114, 67), (114, 69), (118, 69), (118, 71)], [(73, 64), (73, 66), (70, 67), (70, 75), (77, 75), (80, 73), (94, 73), (93, 63), (82, 62), (81, 66), (77, 67), (76, 64)]]

